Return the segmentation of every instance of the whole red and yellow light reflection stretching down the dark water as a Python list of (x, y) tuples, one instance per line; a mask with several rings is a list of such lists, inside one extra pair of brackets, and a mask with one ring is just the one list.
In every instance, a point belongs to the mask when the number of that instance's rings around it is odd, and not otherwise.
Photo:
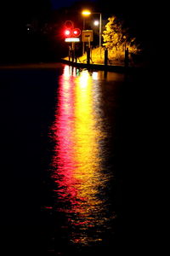
[(52, 177), (56, 212), (68, 220), (70, 241), (89, 245), (102, 241), (114, 212), (106, 195), (113, 172), (105, 170), (104, 113), (99, 73), (65, 66), (59, 77), (58, 104), (51, 127), (54, 141)]

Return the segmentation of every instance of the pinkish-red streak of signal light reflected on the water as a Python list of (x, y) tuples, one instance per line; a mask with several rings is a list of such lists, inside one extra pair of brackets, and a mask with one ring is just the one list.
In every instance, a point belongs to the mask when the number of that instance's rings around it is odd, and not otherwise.
[[(58, 107), (52, 130), (54, 132), (54, 180), (58, 185), (58, 197), (61, 201), (72, 203), (76, 189), (74, 187), (73, 170), (73, 81), (71, 70), (65, 66), (64, 74), (59, 80)], [(58, 211), (63, 211), (62, 208)]]

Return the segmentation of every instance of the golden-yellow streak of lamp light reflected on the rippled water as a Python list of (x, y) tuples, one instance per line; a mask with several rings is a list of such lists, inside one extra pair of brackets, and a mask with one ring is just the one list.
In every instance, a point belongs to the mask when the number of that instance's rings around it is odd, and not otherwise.
[[(77, 180), (79, 207), (74, 208), (78, 218), (72, 224), (77, 225), (80, 230), (88, 230), (105, 222), (100, 215), (104, 207), (103, 201), (99, 199), (99, 188), (105, 186), (99, 157), (101, 152), (99, 141), (104, 138), (104, 133), (98, 123), (92, 77), (88, 71), (84, 71), (75, 82), (74, 154), (77, 168), (74, 170), (74, 177)], [(92, 212), (95, 218), (92, 217)], [(77, 234), (72, 235), (75, 242), (93, 241), (92, 237), (84, 236), (84, 233), (79, 234), (78, 240)]]

